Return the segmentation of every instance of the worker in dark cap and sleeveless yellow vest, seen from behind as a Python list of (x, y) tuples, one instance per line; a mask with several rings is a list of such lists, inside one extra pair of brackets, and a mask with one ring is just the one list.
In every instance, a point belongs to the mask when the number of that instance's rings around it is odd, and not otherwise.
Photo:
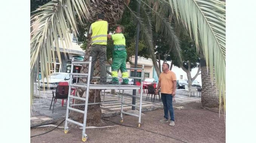
[(91, 38), (91, 80), (93, 79), (94, 64), (99, 55), (100, 59), (100, 83), (108, 84), (106, 82), (106, 44), (107, 44), (107, 34), (108, 34), (108, 22), (103, 19), (105, 16), (103, 14), (98, 14), (97, 21), (91, 24), (89, 29), (89, 38)]

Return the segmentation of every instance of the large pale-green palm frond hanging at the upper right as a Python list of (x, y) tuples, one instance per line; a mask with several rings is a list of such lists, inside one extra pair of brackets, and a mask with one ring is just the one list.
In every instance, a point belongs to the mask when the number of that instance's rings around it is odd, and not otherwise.
[[(224, 99), (225, 108), (225, 2), (219, 0), (169, 0), (177, 17), (193, 33), (197, 50), (204, 51), (207, 67), (210, 67), (213, 80), (213, 68), (219, 98)], [(199, 35), (202, 47), (199, 47)], [(221, 100), (220, 100), (221, 101)], [(221, 105), (221, 102), (220, 102)]]

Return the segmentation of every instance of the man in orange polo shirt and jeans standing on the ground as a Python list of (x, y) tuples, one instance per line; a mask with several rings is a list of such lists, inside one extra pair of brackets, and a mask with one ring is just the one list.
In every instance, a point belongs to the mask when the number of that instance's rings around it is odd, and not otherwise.
[(169, 126), (174, 126), (174, 110), (173, 110), (173, 96), (176, 92), (176, 75), (174, 72), (169, 70), (170, 65), (168, 63), (163, 63), (162, 73), (159, 77), (159, 82), (156, 89), (156, 94), (161, 87), (161, 98), (163, 101), (163, 111), (164, 118), (160, 122), (168, 122), (168, 111), (170, 113), (170, 124)]

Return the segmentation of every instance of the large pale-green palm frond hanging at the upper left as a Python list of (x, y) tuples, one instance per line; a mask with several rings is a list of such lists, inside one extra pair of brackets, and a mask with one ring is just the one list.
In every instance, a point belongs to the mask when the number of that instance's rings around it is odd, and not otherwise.
[[(55, 63), (56, 58), (58, 58), (60, 65), (62, 65), (60, 47), (64, 51), (71, 47), (70, 33), (71, 31), (74, 31), (75, 35), (78, 33), (75, 14), (78, 15), (81, 22), (82, 19), (89, 20), (91, 18), (90, 9), (89, 0), (53, 0), (37, 9), (40, 12), (33, 16), (37, 19), (31, 24), (31, 27), (34, 28), (31, 32), (30, 47), (31, 99), (34, 72), (39, 72), (39, 68), (36, 69), (39, 64), (36, 63), (40, 61), (42, 79), (47, 77), (48, 82), (48, 75), (53, 68), (51, 63)], [(57, 57), (54, 55), (54, 48), (56, 48)]]

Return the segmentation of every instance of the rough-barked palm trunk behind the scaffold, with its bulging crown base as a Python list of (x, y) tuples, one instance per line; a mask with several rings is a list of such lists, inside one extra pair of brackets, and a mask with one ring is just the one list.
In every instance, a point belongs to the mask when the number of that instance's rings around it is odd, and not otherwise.
[[(122, 17), (123, 11), (125, 9), (125, 3), (126, 5), (129, 5), (130, 0), (108, 0), (108, 1), (99, 1), (99, 3), (95, 3), (94, 1), (91, 1), (92, 4), (92, 11), (93, 15), (92, 21), (94, 22), (96, 20), (97, 14), (104, 13), (105, 14), (105, 20), (108, 21), (109, 27), (113, 26), (117, 23)], [(89, 29), (89, 28), (88, 28)], [(87, 42), (87, 48), (85, 50), (85, 59), (84, 61), (89, 61), (89, 56), (91, 54), (91, 45), (89, 44), (90, 41)], [(99, 58), (97, 59), (97, 62), (95, 63), (94, 67), (96, 68), (94, 70), (94, 77), (99, 76), (100, 73), (100, 63)], [(81, 69), (81, 73), (88, 73), (88, 65), (83, 65)], [(86, 83), (86, 78), (80, 78), (79, 83)], [(96, 82), (96, 79), (93, 79), (92, 82)], [(79, 88), (77, 90), (77, 95), (80, 97), (85, 97), (85, 89)], [(89, 90), (89, 98), (88, 103), (94, 102), (94, 97), (96, 96), (96, 102), (101, 102), (100, 100), (100, 90), (96, 89), (90, 89)], [(85, 101), (76, 100), (76, 104), (85, 103)], [(76, 106), (77, 109), (84, 110), (84, 106)], [(98, 125), (100, 123), (101, 119), (101, 109), (100, 104), (96, 105), (88, 105), (88, 112), (87, 112), (87, 123), (88, 125)], [(77, 120), (79, 122), (83, 122), (83, 114), (73, 112), (71, 111), (70, 117), (74, 120)]]

